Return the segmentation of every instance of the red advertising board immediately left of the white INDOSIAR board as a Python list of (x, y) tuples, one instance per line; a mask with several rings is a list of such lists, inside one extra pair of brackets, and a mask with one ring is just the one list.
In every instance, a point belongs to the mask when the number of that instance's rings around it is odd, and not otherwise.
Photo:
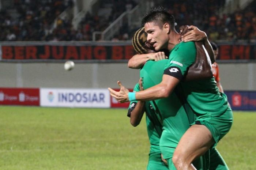
[(0, 105), (40, 105), (39, 88), (0, 88)]

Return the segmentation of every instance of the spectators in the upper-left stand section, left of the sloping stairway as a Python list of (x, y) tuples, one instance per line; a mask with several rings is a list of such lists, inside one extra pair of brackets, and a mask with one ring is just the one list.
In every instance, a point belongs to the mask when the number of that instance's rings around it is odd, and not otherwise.
[(14, 0), (16, 17), (0, 12), (0, 41), (49, 40), (52, 23), (72, 0)]

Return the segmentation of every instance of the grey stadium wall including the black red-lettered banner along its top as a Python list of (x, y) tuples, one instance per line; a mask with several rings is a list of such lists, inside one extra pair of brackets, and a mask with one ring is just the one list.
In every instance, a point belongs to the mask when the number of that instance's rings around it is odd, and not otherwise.
[[(246, 59), (256, 58), (256, 42), (218, 44), (224, 90), (256, 90), (256, 60)], [(127, 58), (134, 54), (131, 41), (0, 42), (0, 46), (0, 87), (117, 88), (120, 80), (133, 88), (139, 80), (139, 70), (127, 67)], [(46, 59), (38, 60), (40, 56)], [(79, 58), (75, 68), (65, 71), (64, 62), (74, 56)]]

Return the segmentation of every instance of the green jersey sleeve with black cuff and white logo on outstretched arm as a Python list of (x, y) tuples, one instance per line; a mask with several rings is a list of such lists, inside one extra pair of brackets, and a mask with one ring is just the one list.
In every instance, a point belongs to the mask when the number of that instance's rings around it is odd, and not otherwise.
[(194, 42), (181, 42), (171, 51), (169, 62), (165, 65), (164, 73), (181, 80), (188, 68), (195, 62), (196, 46)]

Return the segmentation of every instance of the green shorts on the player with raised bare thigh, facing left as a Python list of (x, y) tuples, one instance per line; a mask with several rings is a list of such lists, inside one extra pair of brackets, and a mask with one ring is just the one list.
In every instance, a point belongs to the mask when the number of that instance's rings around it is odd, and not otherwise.
[(221, 114), (220, 116), (211, 116), (211, 117), (204, 117), (203, 116), (196, 116), (196, 120), (193, 124), (204, 125), (206, 126), (215, 141), (215, 145), (218, 143), (219, 140), (222, 139), (223, 136), (229, 132), (231, 125), (233, 123), (233, 112), (230, 109), (227, 109), (226, 112)]

